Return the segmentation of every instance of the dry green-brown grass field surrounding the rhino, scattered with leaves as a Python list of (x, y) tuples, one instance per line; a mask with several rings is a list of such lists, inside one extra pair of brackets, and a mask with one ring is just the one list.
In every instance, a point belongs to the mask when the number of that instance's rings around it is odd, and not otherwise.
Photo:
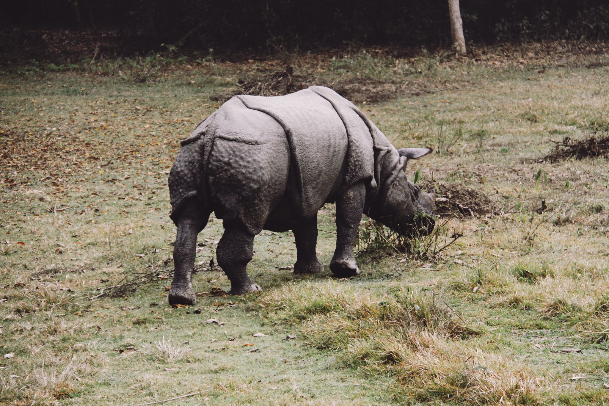
[[(210, 96), (280, 61), (1, 75), (0, 404), (195, 392), (167, 404), (607, 404), (608, 162), (541, 158), (551, 139), (607, 128), (609, 55), (543, 69), (499, 56), (293, 60), (329, 81), (414, 86), (358, 105), (396, 147), (435, 147), (409, 177), (485, 192), (501, 210), (449, 220), (463, 237), (440, 256), (364, 253), (362, 274), (339, 281), (327, 205), (323, 275), (280, 269), (294, 237), (263, 231), (248, 270), (264, 292), (176, 309), (167, 174), (179, 141), (219, 107)], [(221, 235), (211, 220), (198, 267)], [(133, 273), (153, 276), (92, 299)], [(229, 287), (217, 268), (195, 273), (195, 292), (214, 287)]]

